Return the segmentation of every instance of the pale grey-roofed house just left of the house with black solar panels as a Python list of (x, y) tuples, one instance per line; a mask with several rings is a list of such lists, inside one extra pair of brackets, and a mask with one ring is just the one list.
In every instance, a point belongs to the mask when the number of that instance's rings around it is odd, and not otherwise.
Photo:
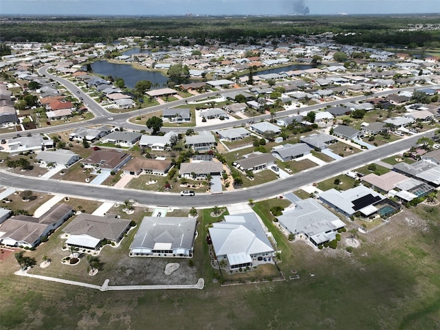
[(311, 198), (295, 201), (294, 208), (284, 210), (277, 219), (287, 234), (304, 235), (315, 246), (333, 241), (338, 230), (345, 227), (338, 216)]

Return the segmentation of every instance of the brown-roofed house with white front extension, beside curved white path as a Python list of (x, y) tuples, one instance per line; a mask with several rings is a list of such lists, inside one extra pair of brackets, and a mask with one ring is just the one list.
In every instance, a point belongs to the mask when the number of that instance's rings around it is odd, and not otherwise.
[(66, 244), (80, 249), (99, 250), (102, 241), (118, 244), (129, 231), (130, 220), (115, 214), (98, 215), (81, 213), (65, 226)]

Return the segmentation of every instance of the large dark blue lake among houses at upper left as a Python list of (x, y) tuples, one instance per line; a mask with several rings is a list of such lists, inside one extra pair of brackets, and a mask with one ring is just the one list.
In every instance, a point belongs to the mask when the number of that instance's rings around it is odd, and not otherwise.
[(153, 85), (155, 83), (159, 84), (159, 87), (151, 87), (151, 89), (163, 88), (163, 85), (166, 85), (168, 81), (168, 77), (164, 76), (161, 72), (138, 70), (129, 64), (96, 61), (91, 63), (91, 69), (94, 70), (94, 73), (101, 74), (104, 77), (122, 78), (124, 79), (125, 86), (131, 89), (135, 88), (136, 83), (140, 80), (149, 80)]

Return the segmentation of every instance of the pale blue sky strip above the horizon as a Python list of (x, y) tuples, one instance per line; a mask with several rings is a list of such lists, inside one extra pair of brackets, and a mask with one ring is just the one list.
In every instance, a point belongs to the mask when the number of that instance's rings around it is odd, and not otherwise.
[(0, 15), (259, 15), (440, 13), (440, 0), (1, 0)]

